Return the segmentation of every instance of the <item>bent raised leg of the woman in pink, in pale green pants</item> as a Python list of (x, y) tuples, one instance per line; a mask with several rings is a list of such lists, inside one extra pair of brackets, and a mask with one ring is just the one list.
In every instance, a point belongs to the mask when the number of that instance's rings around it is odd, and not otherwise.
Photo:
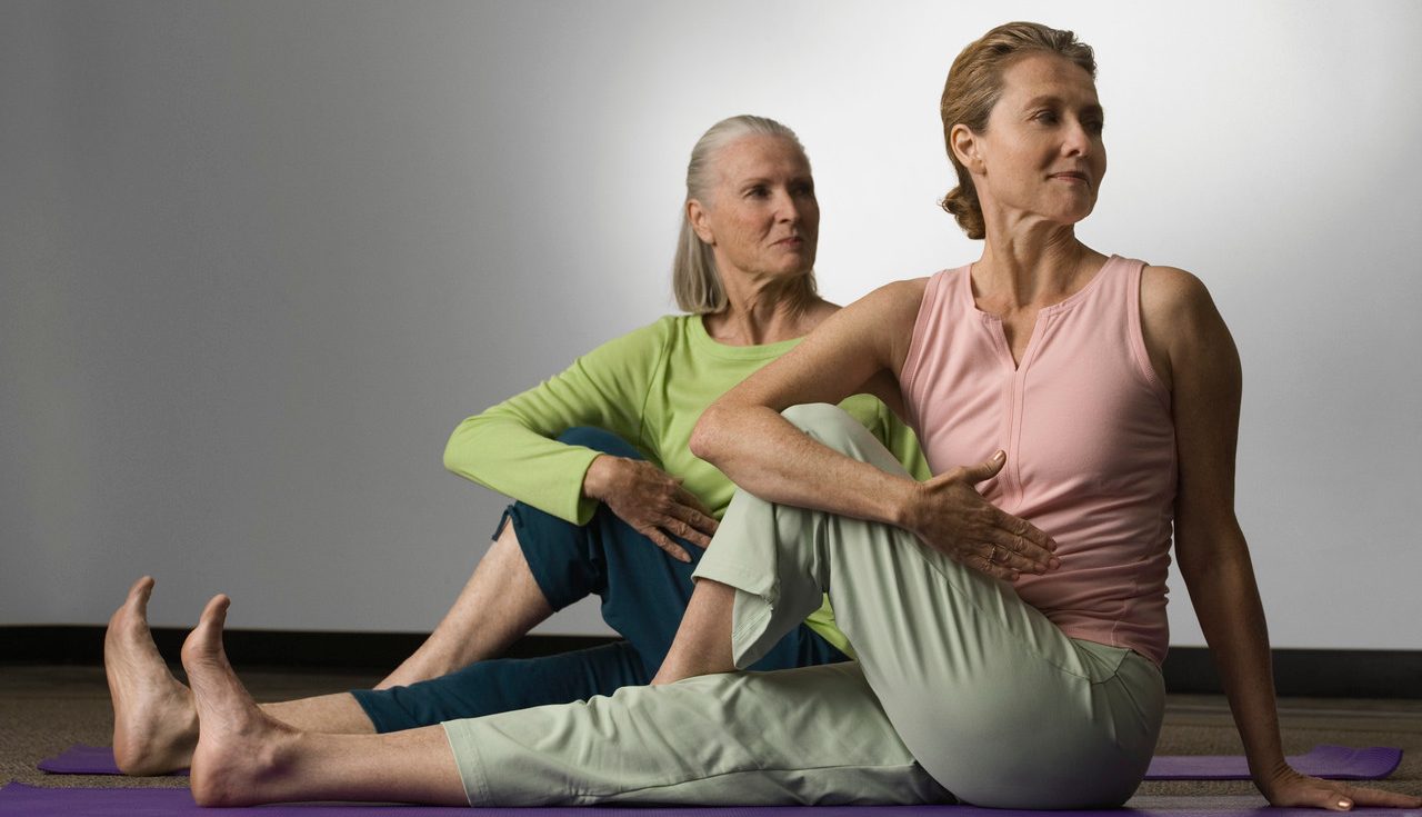
[[(785, 417), (903, 473), (833, 406)], [(1145, 774), (1163, 709), (1159, 670), (1128, 649), (1068, 638), (1007, 585), (907, 531), (741, 492), (697, 576), (684, 621), (718, 628), (684, 629), (658, 680), (754, 662), (828, 592), (899, 736), (963, 800), (1118, 806)]]

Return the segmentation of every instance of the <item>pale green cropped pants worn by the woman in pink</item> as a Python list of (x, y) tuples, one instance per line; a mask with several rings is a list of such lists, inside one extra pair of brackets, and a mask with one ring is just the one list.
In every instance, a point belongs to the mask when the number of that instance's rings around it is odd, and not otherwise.
[[(786, 417), (903, 473), (833, 406)], [(857, 663), (729, 673), (445, 723), (474, 806), (1116, 806), (1165, 690), (1145, 658), (1072, 641), (1007, 585), (912, 534), (741, 492), (697, 568), (737, 588), (752, 663), (828, 592)]]

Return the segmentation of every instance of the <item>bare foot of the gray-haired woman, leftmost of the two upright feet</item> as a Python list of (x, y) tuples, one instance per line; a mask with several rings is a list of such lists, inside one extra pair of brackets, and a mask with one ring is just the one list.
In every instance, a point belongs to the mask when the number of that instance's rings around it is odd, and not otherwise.
[(114, 699), (114, 759), (124, 774), (186, 769), (198, 744), (192, 692), (178, 683), (148, 631), (152, 576), (134, 582), (104, 633), (104, 675)]

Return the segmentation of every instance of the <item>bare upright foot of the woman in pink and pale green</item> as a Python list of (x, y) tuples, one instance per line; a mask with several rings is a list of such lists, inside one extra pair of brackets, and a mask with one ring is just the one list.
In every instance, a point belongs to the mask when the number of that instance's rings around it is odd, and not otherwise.
[(199, 806), (250, 806), (283, 798), (296, 774), (300, 734), (264, 715), (237, 680), (222, 649), (230, 599), (208, 602), (182, 645), (201, 733), (192, 756), (192, 797)]

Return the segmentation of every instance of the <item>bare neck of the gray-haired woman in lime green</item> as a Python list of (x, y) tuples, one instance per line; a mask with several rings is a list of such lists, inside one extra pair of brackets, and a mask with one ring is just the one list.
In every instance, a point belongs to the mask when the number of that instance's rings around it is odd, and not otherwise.
[(724, 276), (727, 307), (705, 316), (707, 333), (729, 346), (761, 346), (803, 337), (833, 310), (809, 289), (809, 278)]

